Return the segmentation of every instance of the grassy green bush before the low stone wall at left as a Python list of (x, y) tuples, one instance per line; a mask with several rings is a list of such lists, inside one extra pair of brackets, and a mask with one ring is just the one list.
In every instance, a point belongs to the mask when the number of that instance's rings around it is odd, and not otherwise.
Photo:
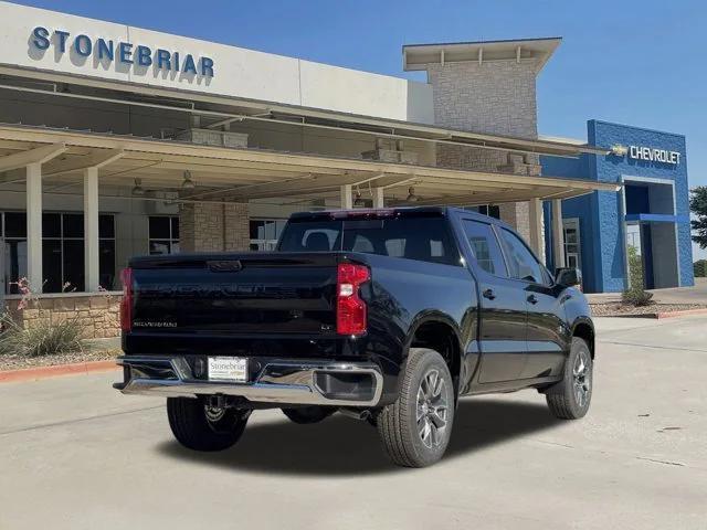
[(82, 326), (75, 318), (56, 324), (40, 319), (38, 324), (23, 328), (6, 314), (0, 316), (0, 356), (41, 357), (83, 350)]

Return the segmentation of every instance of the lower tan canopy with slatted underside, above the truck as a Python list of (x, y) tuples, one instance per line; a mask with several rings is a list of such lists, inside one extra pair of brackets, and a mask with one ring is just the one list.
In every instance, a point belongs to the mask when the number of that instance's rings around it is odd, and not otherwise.
[[(363, 199), (382, 188), (386, 200), (404, 201), (411, 187), (418, 204), (486, 204), (530, 199), (567, 199), (592, 191), (616, 191), (615, 184), (529, 177), (489, 171), (388, 163), (354, 158), (210, 147), (173, 140), (0, 125), (0, 166), (4, 157), (43, 146), (66, 151), (42, 168), (45, 192), (82, 182), (81, 169), (101, 162), (101, 186), (131, 187), (136, 178), (149, 190), (181, 191), (183, 201), (247, 202), (274, 198), (306, 201), (339, 197), (350, 184)], [(181, 190), (189, 170), (197, 188)], [(6, 173), (0, 182), (22, 180)], [(370, 195), (369, 195), (370, 193)]]

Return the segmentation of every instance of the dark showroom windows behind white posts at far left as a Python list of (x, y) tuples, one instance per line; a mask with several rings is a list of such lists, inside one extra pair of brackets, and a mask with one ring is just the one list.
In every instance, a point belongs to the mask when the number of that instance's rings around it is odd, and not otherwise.
[[(0, 213), (0, 235), (4, 239), (6, 293), (17, 294), (19, 278), (27, 276), (27, 214)], [(115, 221), (98, 216), (99, 283), (106, 289), (115, 284)], [(42, 214), (42, 272), (44, 293), (82, 292), (84, 284), (83, 213)], [(35, 286), (34, 286), (35, 287)]]

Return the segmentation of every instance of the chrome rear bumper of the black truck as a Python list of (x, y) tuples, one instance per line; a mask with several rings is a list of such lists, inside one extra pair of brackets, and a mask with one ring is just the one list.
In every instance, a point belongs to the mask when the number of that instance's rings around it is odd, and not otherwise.
[(113, 386), (124, 394), (194, 398), (229, 395), (256, 403), (331, 406), (374, 406), (383, 377), (373, 363), (270, 360), (253, 382), (197, 379), (183, 357), (125, 356), (125, 381)]

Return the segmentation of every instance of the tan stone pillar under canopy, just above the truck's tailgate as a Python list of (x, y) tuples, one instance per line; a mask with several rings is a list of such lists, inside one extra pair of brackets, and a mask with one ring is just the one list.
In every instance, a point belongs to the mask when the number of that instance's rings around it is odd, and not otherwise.
[(179, 240), (182, 252), (247, 251), (247, 204), (182, 204), (179, 213)]

